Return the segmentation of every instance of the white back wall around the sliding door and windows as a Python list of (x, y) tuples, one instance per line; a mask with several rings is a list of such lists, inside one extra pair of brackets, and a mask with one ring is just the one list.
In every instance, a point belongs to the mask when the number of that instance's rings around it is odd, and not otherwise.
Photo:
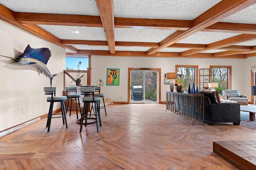
[[(92, 56), (92, 85), (99, 78), (104, 81), (102, 92), (106, 98), (115, 102), (128, 102), (128, 68), (161, 68), (161, 100), (165, 101), (166, 91), (170, 88), (164, 85), (166, 72), (175, 72), (175, 65), (198, 65), (198, 68), (209, 68), (210, 65), (232, 66), (232, 88), (239, 89), (240, 94), (250, 97), (250, 67), (256, 66), (256, 57), (248, 59), (199, 59), (199, 58), (164, 58), (164, 57), (110, 57)], [(120, 68), (120, 86), (106, 86), (106, 69)], [(246, 84), (246, 86), (245, 86)]]

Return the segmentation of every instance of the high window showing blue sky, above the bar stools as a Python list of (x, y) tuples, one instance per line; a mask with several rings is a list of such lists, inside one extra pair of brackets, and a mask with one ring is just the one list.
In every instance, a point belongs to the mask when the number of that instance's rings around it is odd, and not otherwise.
[(80, 70), (87, 70), (88, 68), (88, 57), (66, 57), (66, 70), (77, 70), (79, 62)]

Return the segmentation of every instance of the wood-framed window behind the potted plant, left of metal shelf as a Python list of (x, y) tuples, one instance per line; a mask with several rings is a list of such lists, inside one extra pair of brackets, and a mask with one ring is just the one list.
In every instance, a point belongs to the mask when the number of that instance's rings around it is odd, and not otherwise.
[(176, 72), (178, 74), (176, 83), (180, 86), (183, 84), (183, 90), (188, 90), (189, 83), (198, 85), (198, 66), (192, 65), (176, 65)]

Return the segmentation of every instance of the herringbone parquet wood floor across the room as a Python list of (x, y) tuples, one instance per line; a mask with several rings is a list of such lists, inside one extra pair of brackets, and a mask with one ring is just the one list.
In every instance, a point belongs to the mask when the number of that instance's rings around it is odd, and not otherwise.
[(213, 141), (256, 140), (256, 130), (232, 123), (209, 126), (165, 110), (164, 104), (112, 104), (102, 127), (83, 127), (76, 114), (46, 119), (0, 138), (0, 169), (236, 169), (213, 153)]

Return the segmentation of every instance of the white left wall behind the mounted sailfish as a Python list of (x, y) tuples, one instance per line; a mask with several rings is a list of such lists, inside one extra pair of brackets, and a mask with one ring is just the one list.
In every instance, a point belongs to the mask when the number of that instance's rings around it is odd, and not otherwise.
[[(57, 88), (56, 95), (62, 95), (65, 49), (0, 21), (0, 55), (15, 57), (14, 50), (23, 53), (28, 44), (32, 48), (47, 47), (52, 51), (47, 66), (51, 74), (58, 74), (52, 86)], [(0, 131), (44, 115), (49, 109), (43, 91), (44, 86), (50, 86), (49, 78), (39, 74), (34, 66), (8, 64), (10, 62), (12, 59), (0, 57)], [(59, 104), (54, 106), (54, 110), (58, 108)]]

